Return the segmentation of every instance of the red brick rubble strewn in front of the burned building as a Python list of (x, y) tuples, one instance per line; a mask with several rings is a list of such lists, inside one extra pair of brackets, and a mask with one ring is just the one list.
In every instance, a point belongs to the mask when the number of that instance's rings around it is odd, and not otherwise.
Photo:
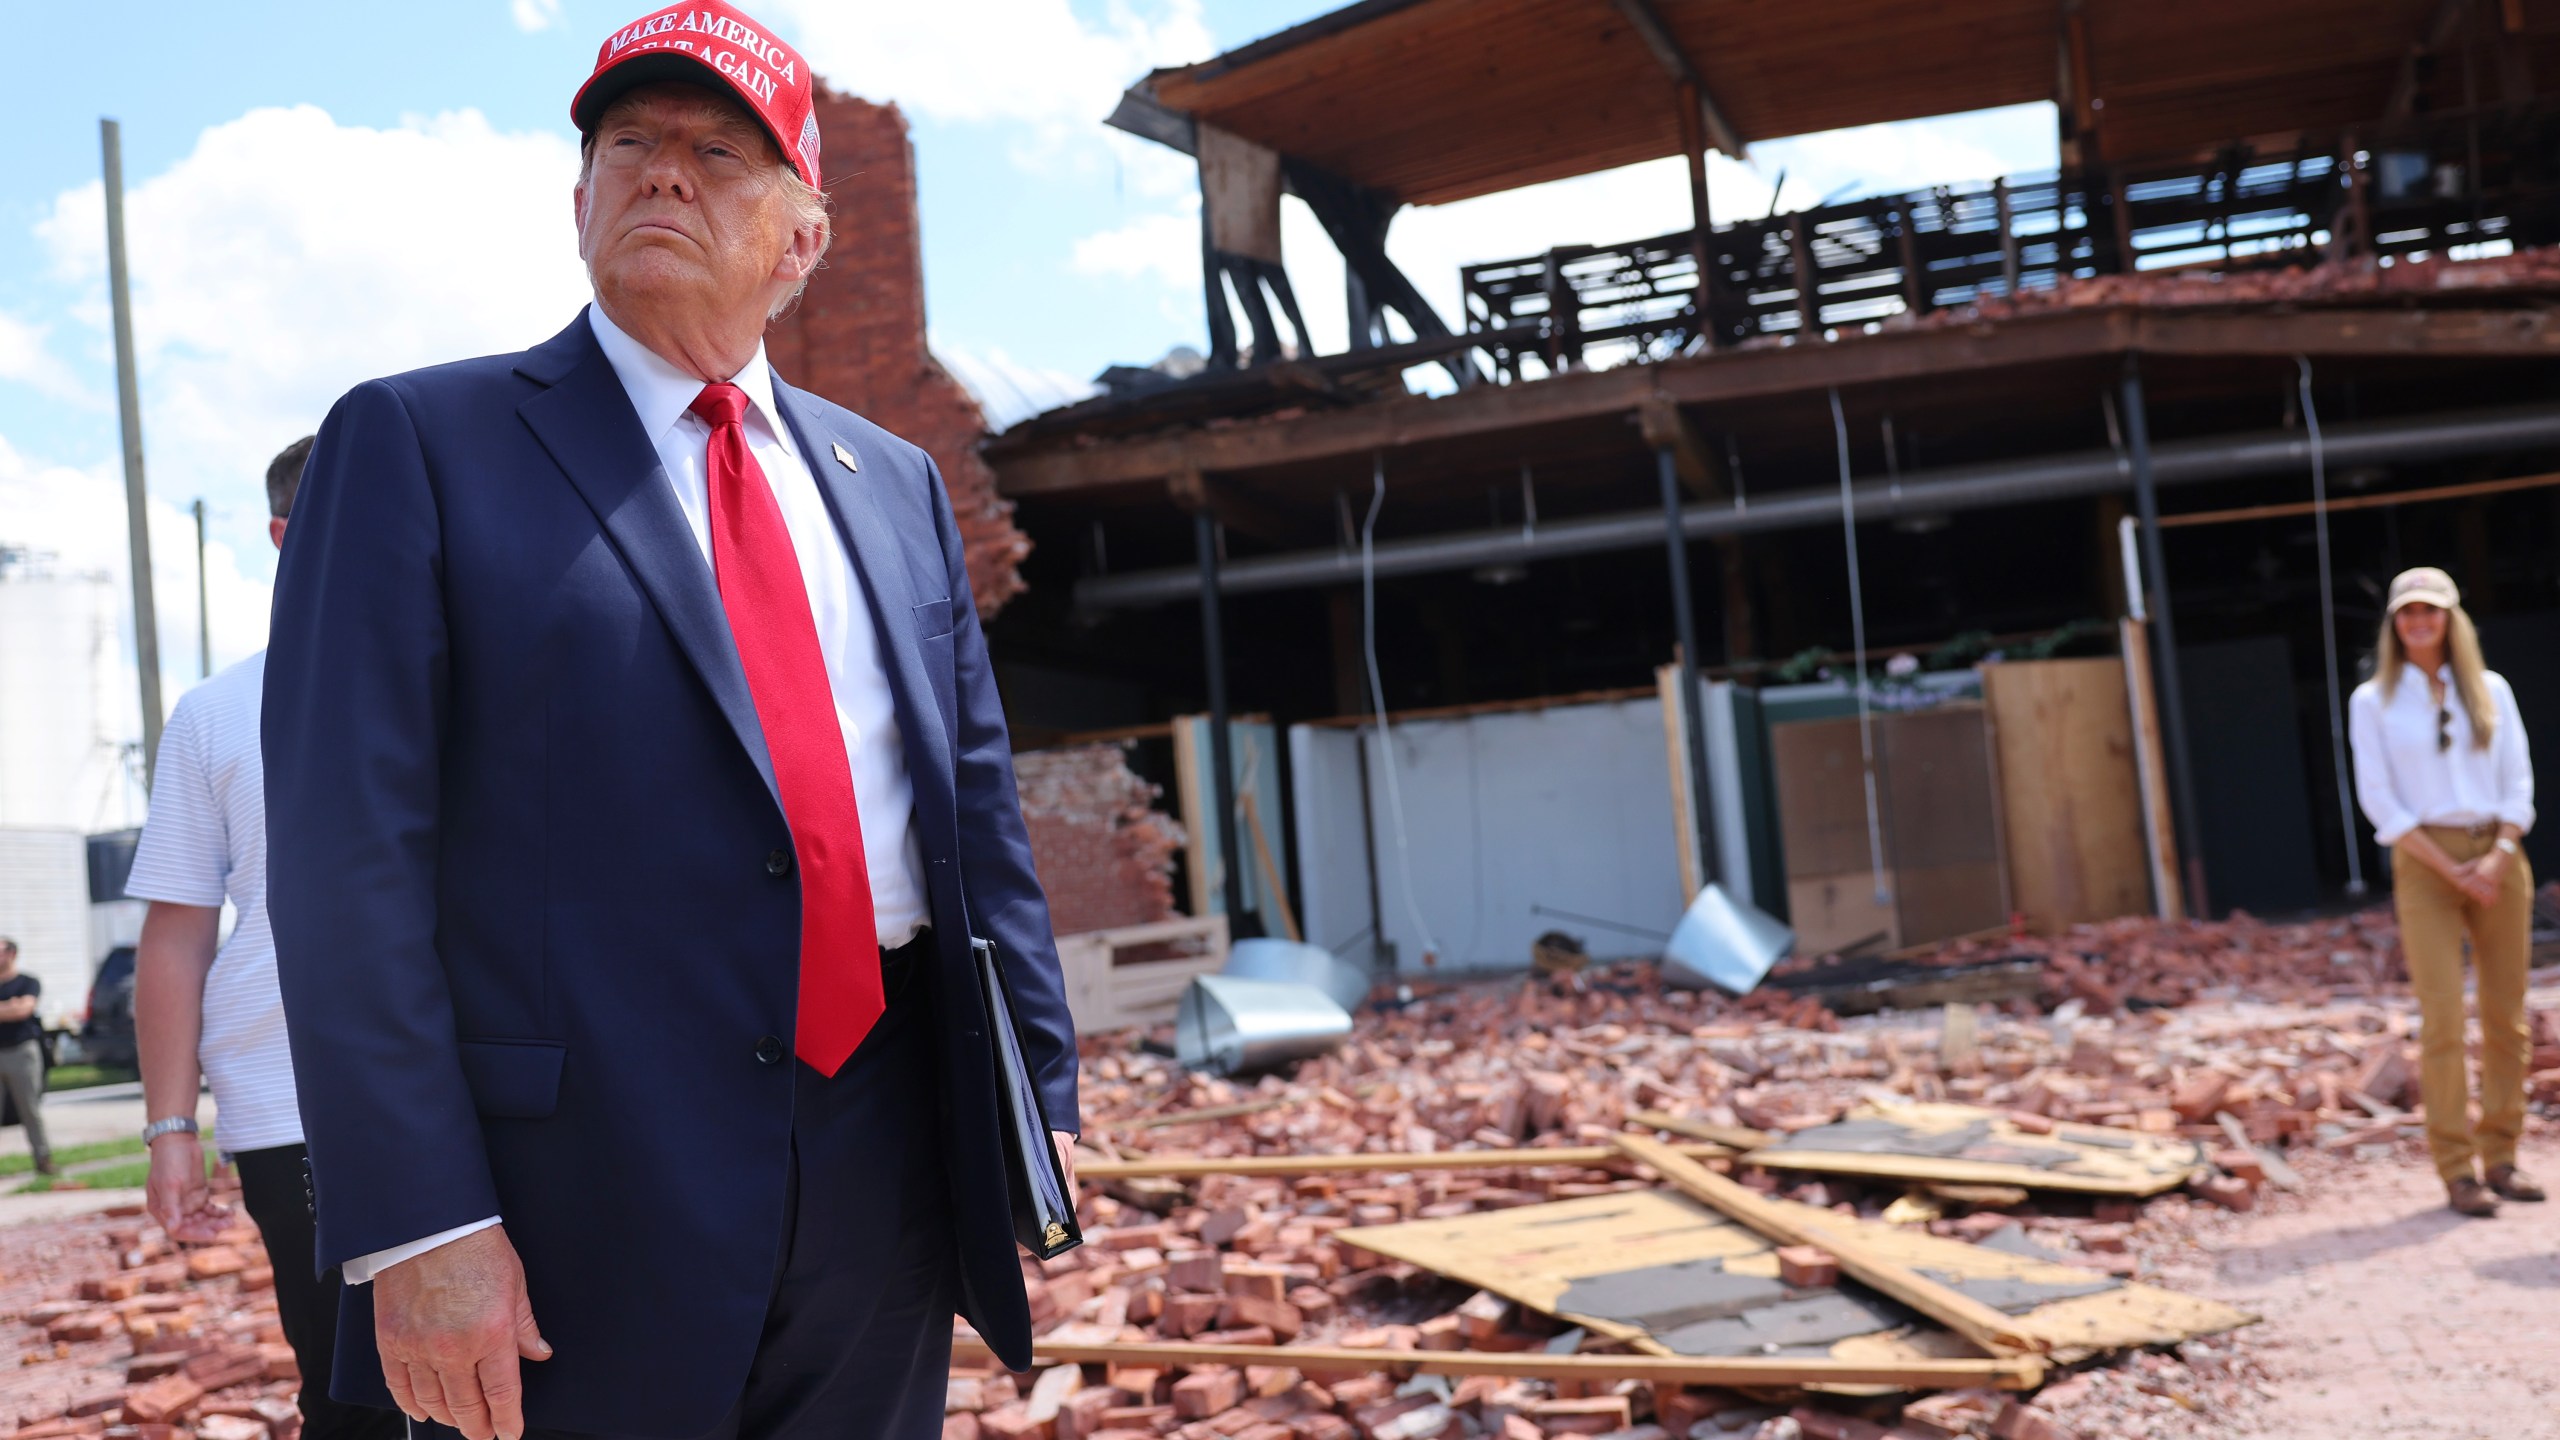
[[(2258, 1202), (2271, 1156), (2232, 1145), (2222, 1120), (2268, 1150), (2355, 1156), (2414, 1143), (2417, 1053), (2406, 999), (2365, 997), (2388, 953), (2373, 917), (2335, 925), (2097, 928), (2086, 974), (2122, 997), (2258, 986), (2278, 997), (2099, 1017), (2079, 989), (2056, 1015), (2004, 1017), (1953, 1043), (1935, 1015), (1838, 1022), (1772, 999), (1667, 992), (1644, 966), (1546, 981), (1452, 986), (1362, 1015), (1334, 1056), (1254, 1084), (1185, 1076), (1134, 1035), (1085, 1053), (1088, 1143), (1111, 1156), (1452, 1150), (1600, 1143), (1636, 1109), (1800, 1130), (1879, 1094), (1958, 1099), (2022, 1125), (2089, 1120), (2204, 1140), (2214, 1171), (2150, 1204), (2038, 1197), (2007, 1209), (1943, 1204), (1938, 1235), (1984, 1240), (2012, 1225), (2068, 1263), (2150, 1276), (2173, 1230)], [(2176, 953), (2176, 943), (2196, 945)], [(2074, 948), (2079, 945), (2079, 948)], [(2332, 951), (2353, 963), (2332, 966)], [(2317, 963), (2314, 963), (2317, 961)], [(2363, 969), (2360, 969), (2363, 966)], [(2330, 984), (2314, 984), (2312, 974)], [(2340, 981), (2335, 971), (2348, 971)], [(2299, 997), (2314, 994), (2314, 1002)], [(2545, 1020), (2540, 1068), (2560, 1071)], [(2560, 1081), (2560, 1074), (2550, 1076)], [(1900, 1186), (1743, 1171), (1764, 1191), (1879, 1217)], [(1349, 1225), (1454, 1217), (1641, 1186), (1623, 1166), (1503, 1166), (1375, 1176), (1198, 1176), (1085, 1186), (1088, 1245), (1029, 1268), (1052, 1343), (1206, 1340), (1372, 1350), (1544, 1345), (1559, 1325), (1336, 1240)], [(1820, 1261), (1800, 1258), (1800, 1261)], [(2220, 1345), (2220, 1348), (2217, 1348)], [(1682, 1386), (1439, 1381), (1316, 1368), (1057, 1366), (1011, 1379), (991, 1363), (952, 1376), (947, 1440), (1928, 1440), (1987, 1435), (2156, 1435), (2163, 1407), (2243, 1384), (2227, 1343), (2127, 1355), (2035, 1399), (1917, 1396), (1907, 1407), (1820, 1399), (1772, 1407)], [(2240, 1376), (2240, 1379), (2235, 1379)]]

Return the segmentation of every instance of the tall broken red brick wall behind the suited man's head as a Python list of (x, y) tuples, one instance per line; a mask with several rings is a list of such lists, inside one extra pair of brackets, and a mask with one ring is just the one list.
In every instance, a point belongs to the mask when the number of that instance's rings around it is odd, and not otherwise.
[(835, 246), (801, 302), (765, 333), (773, 364), (794, 384), (904, 436), (942, 466), (978, 615), (1021, 594), (1032, 538), (996, 495), (978, 456), (986, 415), (924, 343), (924, 249), (916, 220), (916, 154), (906, 115), (817, 87), (819, 156), (835, 202)]

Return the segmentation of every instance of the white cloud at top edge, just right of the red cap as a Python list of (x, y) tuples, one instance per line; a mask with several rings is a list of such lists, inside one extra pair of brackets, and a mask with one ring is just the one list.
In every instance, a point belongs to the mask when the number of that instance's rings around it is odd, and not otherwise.
[(1093, 20), (1068, 0), (845, 5), (768, 0), (829, 85), (934, 120), (1016, 120), (1085, 138), (1121, 90), (1160, 64), (1216, 54), (1201, 0), (1111, 0)]

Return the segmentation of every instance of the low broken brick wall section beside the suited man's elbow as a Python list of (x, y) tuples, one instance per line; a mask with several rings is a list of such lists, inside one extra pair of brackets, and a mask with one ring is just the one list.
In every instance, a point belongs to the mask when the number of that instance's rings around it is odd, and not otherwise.
[(1060, 935), (1172, 917), (1172, 856), (1183, 825), (1149, 802), (1157, 787), (1119, 746), (1014, 756), (1032, 863)]

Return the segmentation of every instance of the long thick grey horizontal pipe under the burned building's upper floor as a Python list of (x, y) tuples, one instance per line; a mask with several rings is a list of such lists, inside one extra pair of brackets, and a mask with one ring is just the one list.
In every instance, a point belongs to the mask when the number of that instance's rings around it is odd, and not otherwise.
[[(2547, 405), (2458, 410), (2419, 420), (2365, 420), (2324, 430), (2324, 456), (2332, 469), (2552, 443), (2560, 443), (2560, 410)], [(2312, 448), (2301, 430), (2171, 441), (2150, 451), (2156, 484), (2301, 474), (2309, 464)], [(2115, 451), (2076, 451), (2025, 461), (1907, 471), (1900, 482), (1864, 482), (1853, 487), (1853, 495), (1859, 520), (1892, 520), (1897, 515), (1946, 515), (1953, 510), (1987, 510), (2125, 489), (2132, 489), (2132, 474)], [(1518, 528), (1500, 528), (1390, 541), (1375, 548), (1375, 564), (1380, 577), (1405, 577), (1487, 564), (1638, 551), (1661, 543), (1661, 515), (1654, 510), (1582, 520), (1541, 518), (1533, 536), (1523, 536)], [(1756, 495), (1751, 505), (1690, 505), (1679, 512), (1679, 528), (1692, 541), (1838, 523), (1841, 492), (1833, 487)], [(1336, 548), (1236, 561), (1219, 579), (1226, 594), (1357, 582), (1359, 556)], [(1188, 566), (1088, 577), (1075, 584), (1075, 602), (1088, 610), (1175, 605), (1198, 594), (1201, 577)]]

